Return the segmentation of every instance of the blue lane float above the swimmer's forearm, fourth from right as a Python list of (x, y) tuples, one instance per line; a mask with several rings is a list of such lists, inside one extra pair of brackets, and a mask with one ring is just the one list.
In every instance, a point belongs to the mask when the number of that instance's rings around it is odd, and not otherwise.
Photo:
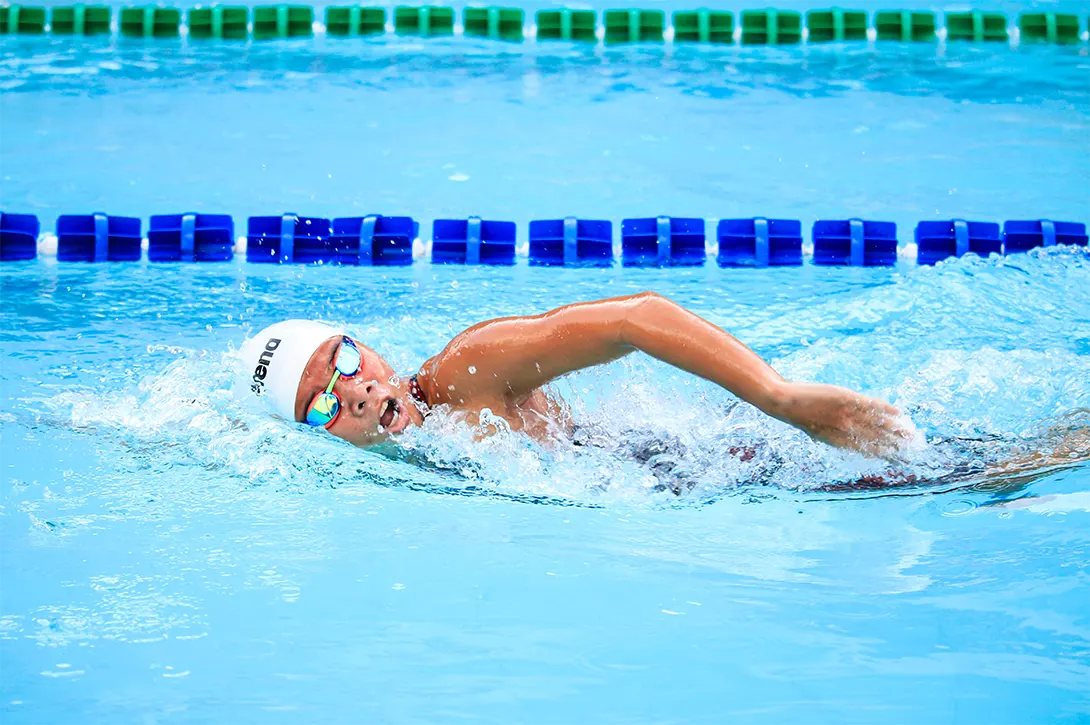
[(795, 219), (720, 219), (716, 261), (720, 267), (798, 266), (802, 264), (802, 222)]

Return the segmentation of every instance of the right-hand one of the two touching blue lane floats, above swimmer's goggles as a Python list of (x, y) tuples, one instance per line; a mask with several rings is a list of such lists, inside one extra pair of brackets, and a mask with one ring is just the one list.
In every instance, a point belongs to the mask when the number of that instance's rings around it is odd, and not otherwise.
[(412, 217), (334, 219), (332, 234), (322, 262), (370, 267), (403, 267), (412, 264), (412, 242), (419, 225)]

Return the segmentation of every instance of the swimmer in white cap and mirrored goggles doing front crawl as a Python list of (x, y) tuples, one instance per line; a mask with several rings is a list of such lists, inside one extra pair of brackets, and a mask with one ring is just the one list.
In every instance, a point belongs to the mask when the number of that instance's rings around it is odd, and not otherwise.
[(896, 459), (916, 435), (889, 403), (786, 380), (725, 330), (653, 292), (480, 323), (408, 377), (360, 340), (310, 321), (265, 328), (243, 346), (241, 359), (249, 390), (275, 413), (356, 446), (396, 443), (440, 406), (470, 425), (489, 410), (513, 431), (547, 443), (570, 436), (574, 425), (546, 386), (637, 351), (831, 446)]

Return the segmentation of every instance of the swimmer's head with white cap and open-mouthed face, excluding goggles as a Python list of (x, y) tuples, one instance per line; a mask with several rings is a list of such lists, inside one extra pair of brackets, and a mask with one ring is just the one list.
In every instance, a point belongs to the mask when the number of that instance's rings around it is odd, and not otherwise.
[[(242, 347), (241, 358), (251, 392), (278, 415), (299, 423), (314, 398), (329, 385), (334, 361), (346, 337), (336, 327), (289, 319), (266, 327)], [(413, 402), (408, 380), (398, 378), (383, 358), (354, 338), (360, 370), (340, 377), (332, 391), (340, 412), (328, 431), (358, 446), (382, 443), (423, 415)]]

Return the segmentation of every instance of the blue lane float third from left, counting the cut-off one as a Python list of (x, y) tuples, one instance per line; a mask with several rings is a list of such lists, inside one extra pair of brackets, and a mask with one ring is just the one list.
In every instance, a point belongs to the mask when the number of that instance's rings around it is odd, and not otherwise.
[(230, 262), (234, 221), (226, 214), (161, 214), (148, 220), (148, 262)]

